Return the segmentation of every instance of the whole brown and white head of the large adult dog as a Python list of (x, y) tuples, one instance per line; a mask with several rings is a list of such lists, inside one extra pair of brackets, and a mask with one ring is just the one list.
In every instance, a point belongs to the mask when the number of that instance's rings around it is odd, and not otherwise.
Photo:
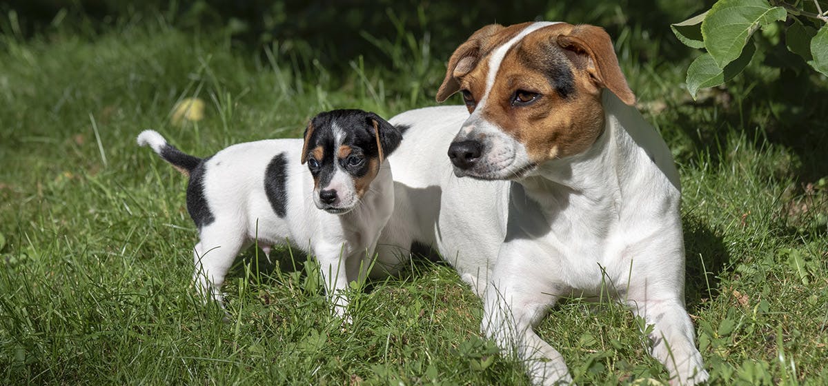
[(481, 28), (455, 50), (437, 92), (442, 102), (460, 91), (471, 113), (450, 146), (455, 174), (520, 179), (547, 160), (589, 149), (604, 128), (604, 88), (635, 102), (597, 26)]

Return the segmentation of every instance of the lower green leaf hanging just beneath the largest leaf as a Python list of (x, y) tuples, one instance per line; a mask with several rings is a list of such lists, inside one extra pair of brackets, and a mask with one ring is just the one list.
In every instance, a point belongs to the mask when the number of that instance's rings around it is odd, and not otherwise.
[(718, 86), (724, 82), (734, 79), (753, 59), (753, 54), (756, 53), (756, 45), (753, 43), (746, 45), (736, 60), (720, 68), (709, 53), (700, 55), (690, 68), (687, 69), (687, 91), (690, 92), (693, 99), (696, 99), (696, 93), (699, 88), (708, 88)]

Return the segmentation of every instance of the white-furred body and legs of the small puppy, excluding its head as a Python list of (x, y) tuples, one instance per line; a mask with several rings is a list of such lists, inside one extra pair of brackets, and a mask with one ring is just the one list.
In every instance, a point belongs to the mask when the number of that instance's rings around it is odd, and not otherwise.
[[(155, 131), (144, 131), (138, 142), (159, 154), (167, 145)], [(368, 274), (379, 233), (392, 213), (391, 170), (388, 162), (380, 165), (371, 188), (351, 211), (326, 212), (315, 205), (314, 180), (299, 162), (302, 143), (280, 139), (231, 145), (203, 160), (197, 176), (191, 174), (190, 184), (200, 184), (203, 192), (203, 203), (196, 205), (208, 208), (210, 217), (200, 226), (194, 250), (194, 279), (203, 293), (221, 302), (233, 260), (257, 240), (266, 253), (271, 245), (290, 244), (315, 255), (325, 288), (334, 296), (334, 311), (344, 315), (348, 301), (340, 292)], [(279, 198), (268, 197), (264, 188), (268, 168), (277, 159), (279, 170), (271, 176), (282, 178)]]

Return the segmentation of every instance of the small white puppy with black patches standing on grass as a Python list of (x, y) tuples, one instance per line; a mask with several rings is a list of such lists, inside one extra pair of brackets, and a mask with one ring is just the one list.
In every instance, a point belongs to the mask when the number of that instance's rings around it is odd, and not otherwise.
[(372, 112), (335, 110), (310, 121), (304, 144), (248, 142), (205, 159), (156, 131), (137, 141), (190, 176), (187, 212), (199, 229), (194, 280), (202, 294), (220, 303), (230, 265), (257, 239), (266, 254), (289, 241), (316, 256), (334, 311), (344, 315), (348, 301), (340, 292), (367, 274), (392, 214), (393, 182), (383, 160), (401, 141), (397, 128)]

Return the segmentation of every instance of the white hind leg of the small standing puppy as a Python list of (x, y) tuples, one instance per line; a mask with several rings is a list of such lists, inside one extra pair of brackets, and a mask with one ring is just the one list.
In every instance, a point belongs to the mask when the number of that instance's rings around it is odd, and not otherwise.
[(216, 238), (216, 235), (205, 231), (202, 231), (201, 234), (201, 241), (195, 245), (193, 251), (195, 260), (193, 280), (205, 300), (207, 297), (211, 297), (219, 302), (221, 307), (224, 307), (221, 285), (224, 284), (224, 276), (227, 275), (233, 260), (235, 260), (238, 252), (242, 250), (243, 240), (226, 236)]

